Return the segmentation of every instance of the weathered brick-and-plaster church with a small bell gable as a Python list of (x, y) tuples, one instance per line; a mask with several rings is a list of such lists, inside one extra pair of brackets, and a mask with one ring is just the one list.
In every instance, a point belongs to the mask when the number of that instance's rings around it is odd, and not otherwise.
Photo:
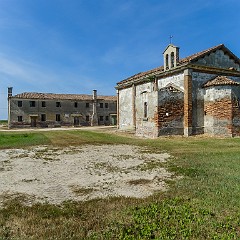
[(240, 135), (240, 60), (223, 44), (117, 83), (118, 127), (139, 136)]

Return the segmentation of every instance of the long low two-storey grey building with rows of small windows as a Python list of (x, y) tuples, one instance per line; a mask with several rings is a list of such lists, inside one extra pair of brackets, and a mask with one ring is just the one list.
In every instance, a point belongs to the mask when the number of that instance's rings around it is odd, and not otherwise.
[(12, 95), (8, 88), (8, 125), (60, 127), (115, 125), (116, 96), (25, 92)]

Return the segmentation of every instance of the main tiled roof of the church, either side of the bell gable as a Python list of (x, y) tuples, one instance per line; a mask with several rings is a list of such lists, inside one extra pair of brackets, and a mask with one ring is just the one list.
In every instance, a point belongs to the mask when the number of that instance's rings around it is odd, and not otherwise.
[[(238, 60), (239, 64), (240, 64), (240, 59), (235, 56), (228, 48), (226, 48), (224, 46), (224, 44), (219, 44), (217, 46), (214, 46), (212, 48), (208, 48), (204, 51), (201, 51), (201, 52), (198, 52), (198, 53), (195, 53), (195, 54), (192, 54), (188, 57), (185, 57), (185, 58), (182, 58), (179, 60), (178, 62), (178, 66), (181, 66), (181, 65), (184, 65), (184, 64), (187, 64), (187, 63), (191, 63), (191, 62), (194, 62), (195, 60), (207, 55), (207, 54), (210, 54), (212, 52), (215, 52), (216, 50), (219, 50), (219, 49), (223, 49), (224, 51), (227, 51), (232, 58)], [(120, 82), (118, 82), (117, 84), (123, 84), (123, 83), (126, 83), (128, 81), (131, 81), (131, 80), (137, 80), (137, 79), (140, 79), (142, 77), (150, 77), (150, 76), (154, 76), (156, 74), (159, 74), (161, 72), (164, 72), (164, 66), (160, 66), (160, 67), (157, 67), (157, 68), (154, 68), (152, 70), (149, 70), (149, 71), (146, 71), (146, 72), (140, 72), (138, 74), (135, 74), (129, 78), (126, 78)]]

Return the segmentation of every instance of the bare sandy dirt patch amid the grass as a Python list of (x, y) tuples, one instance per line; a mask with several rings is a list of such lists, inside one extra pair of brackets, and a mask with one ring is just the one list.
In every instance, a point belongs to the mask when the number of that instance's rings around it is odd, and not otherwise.
[(129, 145), (0, 150), (0, 204), (18, 195), (27, 204), (144, 198), (166, 190), (169, 157)]

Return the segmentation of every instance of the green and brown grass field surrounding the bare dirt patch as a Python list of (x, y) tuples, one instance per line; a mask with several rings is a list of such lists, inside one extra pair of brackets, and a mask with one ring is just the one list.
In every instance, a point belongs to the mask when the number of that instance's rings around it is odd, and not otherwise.
[(102, 143), (168, 152), (165, 167), (184, 177), (146, 199), (30, 207), (18, 196), (0, 209), (0, 239), (240, 239), (239, 138), (149, 140), (76, 130), (0, 135), (1, 148)]

